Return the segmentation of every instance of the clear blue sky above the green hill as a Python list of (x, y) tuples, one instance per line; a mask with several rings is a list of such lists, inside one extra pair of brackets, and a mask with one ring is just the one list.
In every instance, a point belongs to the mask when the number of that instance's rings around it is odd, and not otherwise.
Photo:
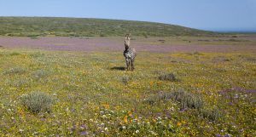
[(256, 31), (256, 0), (0, 0), (0, 16), (144, 20), (210, 31)]

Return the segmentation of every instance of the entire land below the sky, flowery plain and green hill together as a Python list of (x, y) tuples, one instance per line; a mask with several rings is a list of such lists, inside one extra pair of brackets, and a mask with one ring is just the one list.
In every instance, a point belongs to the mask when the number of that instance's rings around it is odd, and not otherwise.
[(0, 36), (0, 136), (256, 136), (255, 34), (0, 17)]

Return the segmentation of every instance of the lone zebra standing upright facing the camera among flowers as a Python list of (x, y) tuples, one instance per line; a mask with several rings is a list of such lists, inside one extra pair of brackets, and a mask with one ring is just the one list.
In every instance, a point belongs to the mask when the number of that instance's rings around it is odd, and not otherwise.
[(131, 38), (131, 34), (126, 34), (125, 35), (125, 51), (124, 51), (124, 56), (125, 56), (125, 61), (126, 61), (126, 66), (127, 66), (127, 71), (130, 70), (130, 66), (131, 66), (131, 71), (134, 70), (134, 60), (136, 57), (136, 50), (135, 49), (131, 49), (130, 47), (130, 38)]

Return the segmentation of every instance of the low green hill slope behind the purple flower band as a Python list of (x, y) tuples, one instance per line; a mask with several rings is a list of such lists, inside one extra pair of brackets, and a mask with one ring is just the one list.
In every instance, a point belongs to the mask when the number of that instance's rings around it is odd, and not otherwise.
[(1, 36), (63, 36), (63, 37), (107, 37), (124, 36), (209, 36), (211, 31), (201, 31), (183, 26), (161, 23), (55, 17), (0, 17)]

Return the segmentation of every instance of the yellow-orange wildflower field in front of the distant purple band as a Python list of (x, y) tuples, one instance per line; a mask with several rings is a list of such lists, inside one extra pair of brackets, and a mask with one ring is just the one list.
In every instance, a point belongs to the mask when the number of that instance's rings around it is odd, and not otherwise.
[(0, 48), (0, 136), (256, 136), (255, 49), (122, 52)]

